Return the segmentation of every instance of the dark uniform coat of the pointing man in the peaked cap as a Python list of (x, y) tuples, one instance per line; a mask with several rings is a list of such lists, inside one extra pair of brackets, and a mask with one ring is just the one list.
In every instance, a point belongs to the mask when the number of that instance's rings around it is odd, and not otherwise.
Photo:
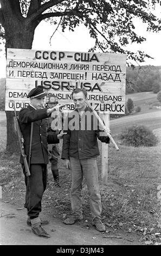
[[(45, 118), (48, 117), (47, 108), (35, 109), (30, 105), (27, 108), (22, 108), (18, 115), (27, 160), (29, 160), (31, 123), (34, 123), (30, 158), (31, 164), (48, 164), (48, 143), (59, 143), (57, 135), (47, 135)], [(22, 155), (20, 157), (20, 163), (23, 163)]]

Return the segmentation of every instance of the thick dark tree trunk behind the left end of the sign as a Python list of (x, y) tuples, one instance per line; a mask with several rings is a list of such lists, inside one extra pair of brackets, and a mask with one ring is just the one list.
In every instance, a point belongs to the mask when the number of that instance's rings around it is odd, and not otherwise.
[[(34, 22), (28, 24), (27, 19), (9, 13), (8, 19), (5, 19), (3, 27), (5, 29), (5, 50), (7, 48), (31, 49), (34, 39), (36, 25)], [(9, 153), (18, 153), (20, 151), (17, 143), (17, 136), (14, 124), (14, 111), (5, 111), (7, 117), (7, 145), (6, 151)]]

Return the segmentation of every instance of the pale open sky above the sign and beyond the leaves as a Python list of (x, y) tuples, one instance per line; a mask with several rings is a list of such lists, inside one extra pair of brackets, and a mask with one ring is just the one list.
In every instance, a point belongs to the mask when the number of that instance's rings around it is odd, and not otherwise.
[[(152, 33), (146, 32), (146, 25), (140, 21), (135, 21), (136, 31), (139, 35), (143, 35), (146, 41), (142, 44), (132, 44), (128, 46), (128, 50), (137, 51), (141, 50), (149, 54), (154, 59), (145, 59), (145, 62), (141, 65), (161, 65), (161, 32)], [(79, 26), (75, 32), (64, 33), (61, 29), (57, 29), (54, 36), (51, 35), (55, 31), (55, 26), (50, 25), (45, 21), (42, 21), (40, 25), (35, 29), (33, 49), (34, 50), (55, 50), (55, 51), (80, 51), (88, 52), (89, 48), (94, 46), (94, 39), (89, 35), (89, 32), (85, 26)], [(50, 40), (51, 38), (51, 40)], [(137, 63), (133, 63), (137, 65)], [(0, 45), (0, 78), (5, 77), (5, 54), (4, 46)]]

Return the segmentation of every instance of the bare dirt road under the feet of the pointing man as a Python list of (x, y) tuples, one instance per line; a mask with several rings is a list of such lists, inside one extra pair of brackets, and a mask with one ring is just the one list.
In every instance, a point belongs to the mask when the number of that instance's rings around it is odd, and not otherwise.
[[(20, 206), (4, 203), (2, 199), (0, 200), (1, 245), (139, 245), (136, 239), (128, 241), (128, 234), (122, 234), (121, 239), (105, 238), (104, 236), (108, 236), (110, 233), (100, 233), (94, 227), (87, 229), (79, 223), (65, 225), (51, 214), (46, 216), (50, 223), (45, 226), (51, 237), (43, 239), (33, 234), (31, 228), (26, 225), (25, 209), (17, 210)], [(44, 217), (43, 214), (41, 217)]]

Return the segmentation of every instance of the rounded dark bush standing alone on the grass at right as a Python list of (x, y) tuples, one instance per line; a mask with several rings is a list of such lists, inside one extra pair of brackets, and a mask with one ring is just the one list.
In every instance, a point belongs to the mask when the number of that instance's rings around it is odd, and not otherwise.
[(144, 125), (132, 125), (126, 128), (120, 135), (120, 139), (125, 145), (134, 147), (152, 147), (158, 142), (153, 132)]

